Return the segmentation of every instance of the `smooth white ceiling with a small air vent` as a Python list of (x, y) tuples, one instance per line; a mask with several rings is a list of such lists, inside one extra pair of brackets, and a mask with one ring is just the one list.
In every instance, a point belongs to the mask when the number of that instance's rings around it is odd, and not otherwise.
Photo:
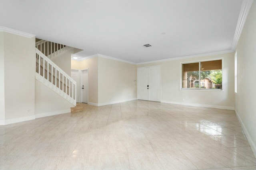
[[(0, 26), (141, 63), (231, 49), (242, 0), (1, 0)], [(150, 44), (152, 47), (142, 47)]]

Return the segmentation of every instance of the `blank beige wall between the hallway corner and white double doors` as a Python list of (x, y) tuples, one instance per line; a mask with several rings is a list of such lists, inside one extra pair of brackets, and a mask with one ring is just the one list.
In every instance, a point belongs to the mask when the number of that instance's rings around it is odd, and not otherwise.
[(134, 100), (137, 98), (136, 65), (98, 58), (98, 103)]

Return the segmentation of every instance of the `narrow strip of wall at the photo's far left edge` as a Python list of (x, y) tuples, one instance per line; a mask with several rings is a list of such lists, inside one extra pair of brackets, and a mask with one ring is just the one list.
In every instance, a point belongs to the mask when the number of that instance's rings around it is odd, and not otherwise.
[(0, 32), (0, 125), (4, 124), (4, 32)]

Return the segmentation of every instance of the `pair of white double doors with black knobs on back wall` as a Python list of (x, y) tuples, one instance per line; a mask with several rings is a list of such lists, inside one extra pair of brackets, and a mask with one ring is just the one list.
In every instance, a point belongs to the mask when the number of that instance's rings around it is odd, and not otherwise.
[(138, 99), (154, 102), (161, 101), (161, 67), (139, 67), (137, 68)]

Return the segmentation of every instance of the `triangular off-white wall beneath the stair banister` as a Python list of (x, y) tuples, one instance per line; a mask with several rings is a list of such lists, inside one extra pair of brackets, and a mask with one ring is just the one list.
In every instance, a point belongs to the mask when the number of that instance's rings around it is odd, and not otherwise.
[(35, 114), (37, 117), (56, 115), (70, 112), (74, 107), (70, 102), (48, 88), (38, 80), (35, 81)]

